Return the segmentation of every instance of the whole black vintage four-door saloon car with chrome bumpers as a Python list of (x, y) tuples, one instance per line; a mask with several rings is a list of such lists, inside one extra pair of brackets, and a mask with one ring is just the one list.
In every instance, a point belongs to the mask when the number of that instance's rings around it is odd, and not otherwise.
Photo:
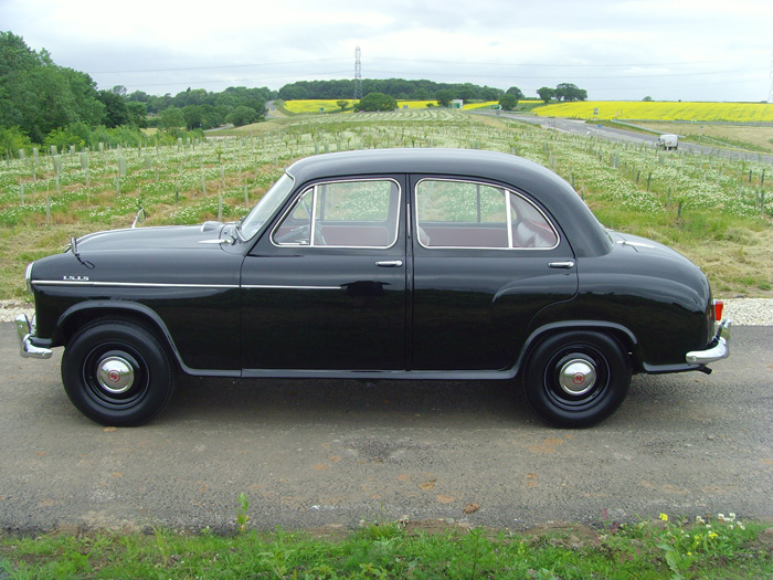
[(728, 356), (696, 265), (606, 230), (549, 170), (486, 151), (303, 159), (237, 223), (73, 239), (27, 284), (22, 356), (63, 346), (70, 399), (112, 425), (156, 415), (181, 370), (517, 379), (544, 421), (587, 426), (632, 373)]

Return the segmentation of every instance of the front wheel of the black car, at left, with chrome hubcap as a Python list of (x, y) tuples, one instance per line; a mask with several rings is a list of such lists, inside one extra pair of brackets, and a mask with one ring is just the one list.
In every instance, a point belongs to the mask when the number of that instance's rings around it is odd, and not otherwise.
[(131, 426), (169, 402), (169, 357), (148, 330), (124, 320), (98, 320), (78, 330), (62, 357), (62, 382), (73, 404), (104, 425)]

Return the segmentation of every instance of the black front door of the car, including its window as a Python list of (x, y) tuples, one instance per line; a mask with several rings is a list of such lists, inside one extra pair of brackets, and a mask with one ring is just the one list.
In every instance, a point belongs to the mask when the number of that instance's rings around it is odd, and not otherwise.
[(404, 370), (404, 191), (395, 177), (300, 188), (242, 266), (244, 376)]

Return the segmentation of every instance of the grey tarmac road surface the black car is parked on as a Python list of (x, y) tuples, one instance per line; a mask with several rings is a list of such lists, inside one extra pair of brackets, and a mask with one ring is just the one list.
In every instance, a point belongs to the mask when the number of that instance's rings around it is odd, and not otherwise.
[(773, 517), (773, 327), (733, 328), (711, 376), (635, 377), (589, 430), (544, 426), (505, 382), (211, 379), (180, 381), (142, 428), (104, 428), (67, 400), (61, 349), (22, 359), (14, 333), (0, 324), (7, 530), (233, 530), (241, 493), (257, 529)]

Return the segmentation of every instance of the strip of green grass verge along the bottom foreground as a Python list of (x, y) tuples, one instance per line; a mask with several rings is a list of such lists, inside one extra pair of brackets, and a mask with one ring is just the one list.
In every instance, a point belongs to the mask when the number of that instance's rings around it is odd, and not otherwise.
[(97, 531), (0, 536), (0, 576), (45, 578), (763, 578), (773, 528), (697, 521), (526, 532), (402, 520), (339, 537)]

